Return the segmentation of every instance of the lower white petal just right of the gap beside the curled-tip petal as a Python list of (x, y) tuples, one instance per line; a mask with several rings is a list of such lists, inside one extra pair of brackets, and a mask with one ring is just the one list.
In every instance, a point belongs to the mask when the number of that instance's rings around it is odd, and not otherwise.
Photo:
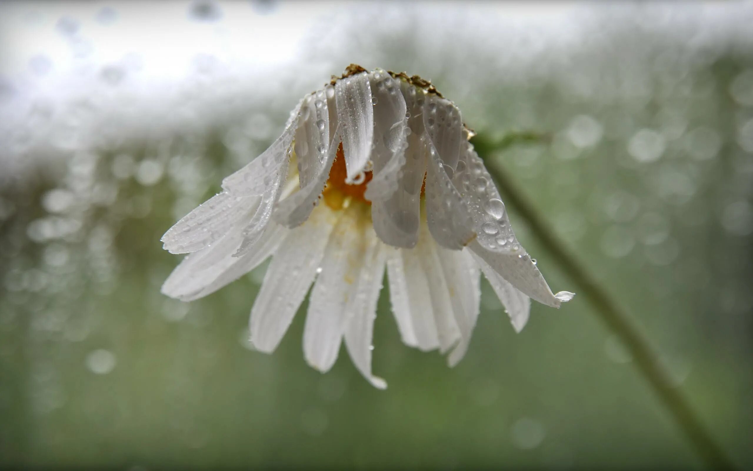
[[(439, 347), (428, 281), (416, 249), (397, 249), (387, 261), (389, 297), (401, 337), (410, 347)], [(410, 326), (410, 328), (409, 328)]]

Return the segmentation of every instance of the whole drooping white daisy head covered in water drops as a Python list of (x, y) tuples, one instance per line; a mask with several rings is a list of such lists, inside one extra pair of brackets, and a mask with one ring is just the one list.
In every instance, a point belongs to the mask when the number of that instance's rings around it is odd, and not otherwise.
[[(331, 369), (344, 341), (371, 372), (386, 268), (402, 340), (450, 352), (456, 365), (479, 313), (480, 273), (520, 332), (530, 300), (559, 307), (510, 227), (505, 205), (468, 142), (460, 110), (417, 76), (351, 65), (305, 96), (282, 136), (227, 176), (223, 191), (162, 240), (191, 253), (162, 292), (191, 301), (272, 261), (251, 311), (252, 344), (270, 353), (313, 283), (303, 353)], [(291, 164), (293, 163), (293, 164)]]

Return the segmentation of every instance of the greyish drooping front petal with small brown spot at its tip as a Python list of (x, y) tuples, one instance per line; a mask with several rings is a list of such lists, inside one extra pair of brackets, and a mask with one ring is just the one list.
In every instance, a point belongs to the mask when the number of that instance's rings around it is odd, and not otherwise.
[(468, 203), (456, 190), (439, 155), (429, 149), (426, 171), (426, 218), (431, 235), (447, 249), (459, 250), (474, 240), (473, 221), (468, 216)]

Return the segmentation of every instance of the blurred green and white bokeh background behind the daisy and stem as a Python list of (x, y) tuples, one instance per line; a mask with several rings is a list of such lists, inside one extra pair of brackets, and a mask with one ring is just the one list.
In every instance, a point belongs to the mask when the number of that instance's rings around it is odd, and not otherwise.
[[(431, 78), (486, 136), (549, 136), (489, 166), (516, 177), (753, 466), (751, 4), (0, 12), (0, 466), (702, 467), (582, 296), (534, 303), (516, 335), (484, 281), (449, 369), (401, 344), (384, 289), (380, 391), (344, 351), (325, 375), (306, 365), (305, 303), (273, 355), (252, 351), (264, 266), (190, 304), (160, 294), (179, 261), (163, 232), (351, 62)], [(510, 209), (553, 291), (578, 291)]]

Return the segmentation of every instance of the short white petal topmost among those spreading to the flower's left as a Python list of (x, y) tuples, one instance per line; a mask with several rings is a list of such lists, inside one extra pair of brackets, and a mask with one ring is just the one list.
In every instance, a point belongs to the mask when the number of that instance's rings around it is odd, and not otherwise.
[(249, 195), (264, 194), (267, 188), (272, 185), (274, 176), (278, 173), (279, 167), (283, 162), (287, 162), (291, 154), (291, 142), (297, 127), (297, 115), (303, 99), (300, 100), (295, 109), (291, 112), (288, 123), (285, 124), (285, 130), (282, 136), (279, 136), (275, 142), (267, 148), (258, 158), (251, 161), (236, 173), (231, 173), (222, 180), (222, 188), (233, 194)]

